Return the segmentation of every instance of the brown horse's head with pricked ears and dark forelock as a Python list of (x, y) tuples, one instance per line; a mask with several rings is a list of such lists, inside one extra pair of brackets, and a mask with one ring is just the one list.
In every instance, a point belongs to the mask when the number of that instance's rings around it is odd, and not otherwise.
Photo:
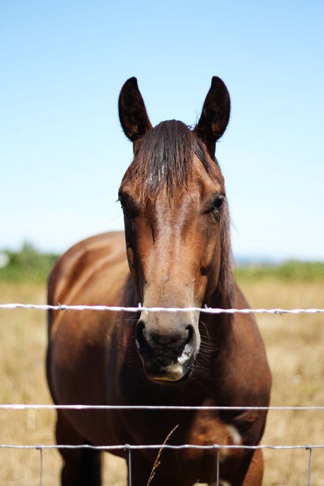
[[(119, 189), (127, 256), (144, 307), (200, 307), (224, 279), (228, 217), (216, 141), (230, 112), (226, 86), (213, 77), (193, 130), (181, 121), (152, 128), (136, 78), (119, 96), (119, 118), (134, 159)], [(199, 312), (142, 311), (136, 346), (157, 383), (191, 376), (199, 351)]]

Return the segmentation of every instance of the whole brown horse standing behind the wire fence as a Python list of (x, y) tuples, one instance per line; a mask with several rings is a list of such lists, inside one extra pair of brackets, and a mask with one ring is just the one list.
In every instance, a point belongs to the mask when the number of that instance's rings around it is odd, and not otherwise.
[[(119, 96), (134, 160), (119, 189), (124, 233), (80, 242), (56, 263), (49, 303), (247, 307), (232, 275), (224, 179), (216, 141), (230, 111), (213, 77), (198, 124), (152, 128), (136, 78)], [(126, 238), (126, 246), (125, 246)], [(160, 312), (49, 313), (48, 381), (57, 404), (268, 406), (270, 372), (254, 317)], [(260, 410), (59, 410), (58, 444), (257, 445)], [(62, 484), (101, 484), (100, 454), (61, 449)], [(126, 457), (124, 451), (118, 455)], [(132, 451), (133, 486), (148, 482), (156, 450)], [(164, 449), (151, 486), (215, 484), (215, 450)], [(260, 485), (260, 449), (220, 449), (220, 484)]]

